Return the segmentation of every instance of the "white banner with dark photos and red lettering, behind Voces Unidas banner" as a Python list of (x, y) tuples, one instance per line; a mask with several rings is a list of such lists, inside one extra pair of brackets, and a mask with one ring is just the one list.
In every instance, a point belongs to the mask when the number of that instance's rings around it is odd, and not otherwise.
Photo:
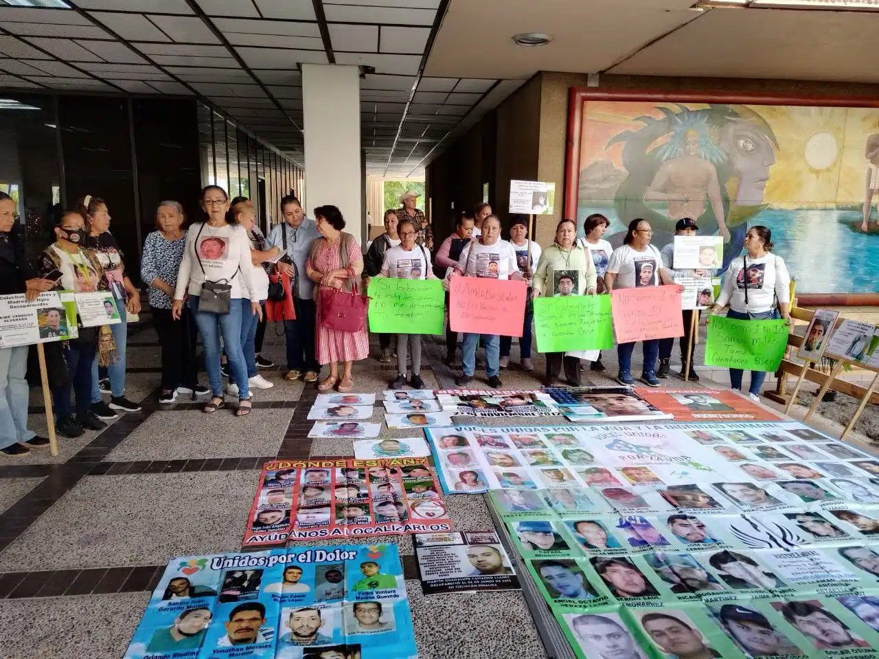
[(552, 398), (542, 391), (443, 389), (436, 392), (447, 412), (461, 416), (557, 416)]

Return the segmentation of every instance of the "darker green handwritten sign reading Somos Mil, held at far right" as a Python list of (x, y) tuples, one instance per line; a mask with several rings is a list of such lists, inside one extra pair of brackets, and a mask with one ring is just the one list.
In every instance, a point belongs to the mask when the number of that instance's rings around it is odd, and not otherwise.
[(712, 316), (705, 342), (705, 366), (775, 371), (787, 345), (787, 321), (740, 321)]

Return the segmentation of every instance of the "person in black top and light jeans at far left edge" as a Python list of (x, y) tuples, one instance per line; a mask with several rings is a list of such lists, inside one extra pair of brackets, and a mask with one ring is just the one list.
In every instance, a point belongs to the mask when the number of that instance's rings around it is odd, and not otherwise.
[[(33, 301), (54, 282), (40, 279), (27, 262), (16, 223), (15, 201), (0, 192), (0, 295), (25, 293), (25, 299)], [(28, 446), (49, 443), (27, 429), (27, 351), (26, 345), (0, 348), (0, 452), (4, 455), (25, 455), (30, 453)]]

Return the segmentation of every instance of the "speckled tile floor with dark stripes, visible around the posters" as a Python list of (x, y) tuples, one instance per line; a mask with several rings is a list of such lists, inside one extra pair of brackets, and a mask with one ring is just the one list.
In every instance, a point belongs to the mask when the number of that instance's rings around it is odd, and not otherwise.
[[(0, 629), (5, 632), (0, 659), (121, 656), (148, 591), (171, 557), (241, 546), (265, 460), (352, 455), (350, 440), (307, 437), (314, 422), (306, 416), (316, 391), (282, 379), (283, 337), (274, 337), (271, 329), (264, 355), (278, 366), (263, 375), (275, 386), (255, 392), (254, 411), (244, 418), (230, 410), (206, 416), (201, 403), (192, 400), (160, 407), (155, 332), (142, 324), (129, 336), (126, 393), (142, 402), (142, 412), (120, 416), (101, 433), (62, 438), (57, 458), (47, 451), (0, 457)], [(444, 352), (439, 337), (425, 340), (427, 387), (454, 386), (457, 373), (443, 366)], [(535, 373), (522, 371), (517, 362), (514, 344), (511, 367), (501, 373), (505, 387), (539, 387), (543, 359), (534, 355)], [(586, 371), (585, 380), (611, 384), (615, 352), (605, 351), (604, 362), (607, 373)], [(381, 392), (395, 374), (395, 365), (368, 358), (355, 366), (355, 390)], [(704, 380), (668, 382), (711, 386)], [(32, 427), (45, 431), (37, 390), (32, 403)], [(476, 423), (471, 416), (458, 418)], [(383, 421), (381, 403), (373, 421)], [(560, 416), (534, 421), (566, 423)], [(382, 430), (388, 437), (412, 432)], [(492, 525), (482, 496), (449, 496), (446, 504), (457, 530)], [(546, 656), (520, 592), (425, 597), (410, 536), (350, 541), (399, 546), (422, 659)]]

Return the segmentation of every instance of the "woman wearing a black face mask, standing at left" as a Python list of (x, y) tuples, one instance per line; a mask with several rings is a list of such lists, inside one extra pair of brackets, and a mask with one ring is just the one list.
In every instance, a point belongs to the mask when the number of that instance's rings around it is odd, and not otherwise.
[[(56, 290), (94, 293), (107, 290), (104, 268), (91, 250), (83, 247), (88, 233), (85, 221), (77, 211), (67, 211), (54, 228), (55, 242), (40, 254), (39, 270), (43, 277), (56, 279)], [(60, 277), (58, 276), (60, 273)], [(100, 431), (107, 427), (91, 411), (92, 363), (98, 351), (99, 327), (79, 328), (79, 337), (66, 346), (46, 344), (48, 351), (63, 350), (69, 381), (52, 388), (55, 430), (64, 437), (79, 437), (85, 430)], [(51, 347), (50, 347), (51, 346)], [(76, 394), (76, 418), (71, 404), (71, 387)]]

